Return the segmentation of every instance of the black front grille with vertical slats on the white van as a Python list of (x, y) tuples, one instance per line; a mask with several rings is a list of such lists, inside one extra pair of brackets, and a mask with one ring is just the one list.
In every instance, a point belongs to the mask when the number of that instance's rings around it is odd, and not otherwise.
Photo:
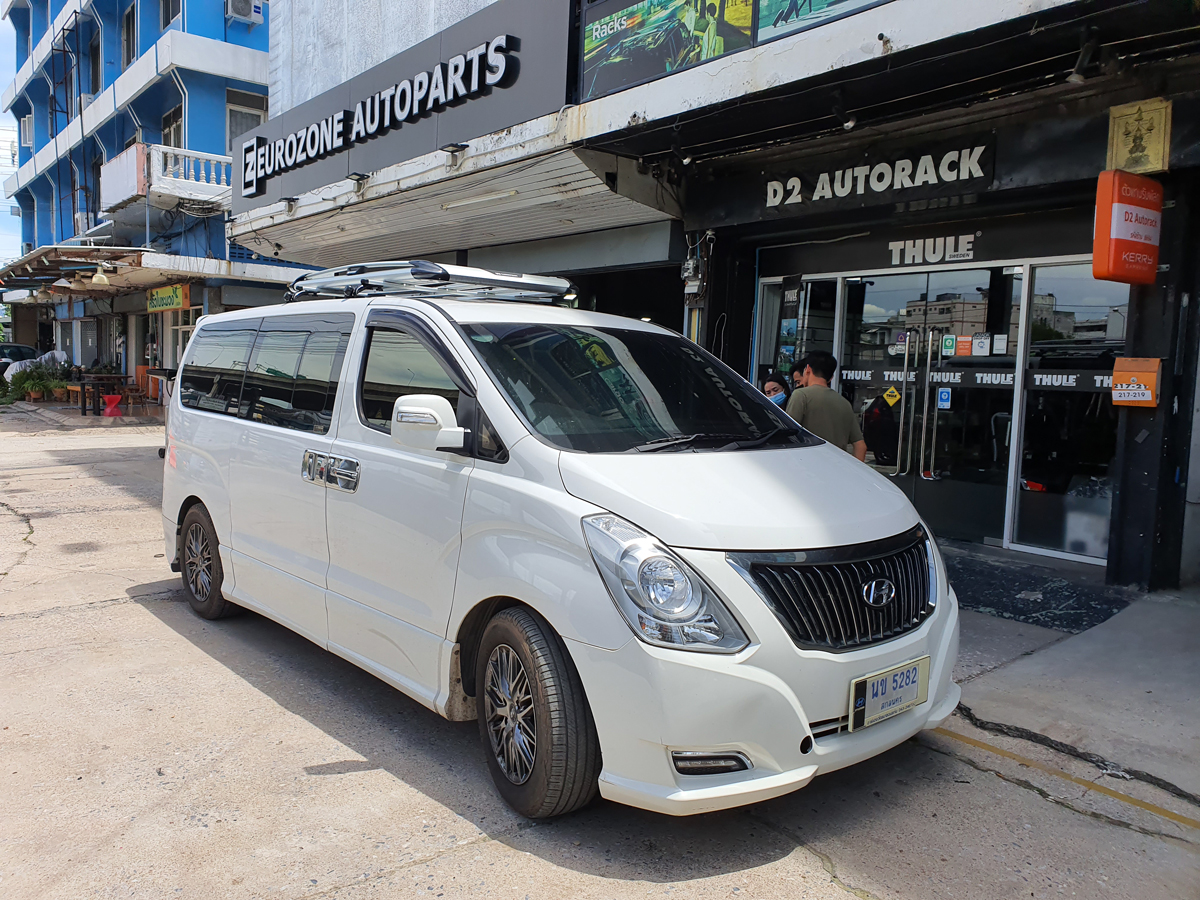
[[(853, 650), (899, 637), (929, 617), (929, 550), (919, 526), (883, 541), (796, 553), (730, 553), (800, 647)], [(886, 578), (895, 590), (881, 607), (865, 584)]]

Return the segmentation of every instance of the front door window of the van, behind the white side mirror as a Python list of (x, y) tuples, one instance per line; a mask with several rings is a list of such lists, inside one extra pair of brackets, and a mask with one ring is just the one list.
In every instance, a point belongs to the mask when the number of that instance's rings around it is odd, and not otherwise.
[(437, 394), (458, 412), (458, 386), (437, 358), (407, 331), (371, 329), (362, 370), (362, 418), (378, 431), (391, 433), (396, 397)]

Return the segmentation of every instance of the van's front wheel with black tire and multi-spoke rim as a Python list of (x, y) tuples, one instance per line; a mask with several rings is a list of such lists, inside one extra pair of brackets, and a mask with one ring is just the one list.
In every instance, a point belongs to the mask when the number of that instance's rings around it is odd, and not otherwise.
[[(521, 673), (514, 676), (508, 697), (503, 694), (505, 665), (511, 666), (512, 659), (526, 676), (532, 709), (521, 702), (526, 696)], [(524, 607), (497, 613), (484, 630), (475, 685), (487, 768), (512, 809), (529, 818), (548, 818), (574, 812), (595, 798), (600, 778), (596, 726), (575, 664), (550, 623)], [(522, 714), (522, 707), (528, 712)], [(506, 714), (510, 708), (515, 716)]]

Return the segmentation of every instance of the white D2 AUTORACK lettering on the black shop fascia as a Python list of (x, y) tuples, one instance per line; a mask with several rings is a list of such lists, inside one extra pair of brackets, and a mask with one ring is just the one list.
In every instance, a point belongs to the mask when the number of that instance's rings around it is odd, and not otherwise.
[(821, 157), (762, 173), (760, 203), (766, 216), (974, 194), (992, 184), (992, 137), (936, 146)]

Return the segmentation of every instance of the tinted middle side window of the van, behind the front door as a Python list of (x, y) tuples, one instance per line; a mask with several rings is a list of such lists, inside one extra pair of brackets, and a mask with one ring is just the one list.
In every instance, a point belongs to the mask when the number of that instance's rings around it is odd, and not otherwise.
[(263, 320), (241, 395), (244, 419), (313, 434), (329, 432), (353, 314)]

